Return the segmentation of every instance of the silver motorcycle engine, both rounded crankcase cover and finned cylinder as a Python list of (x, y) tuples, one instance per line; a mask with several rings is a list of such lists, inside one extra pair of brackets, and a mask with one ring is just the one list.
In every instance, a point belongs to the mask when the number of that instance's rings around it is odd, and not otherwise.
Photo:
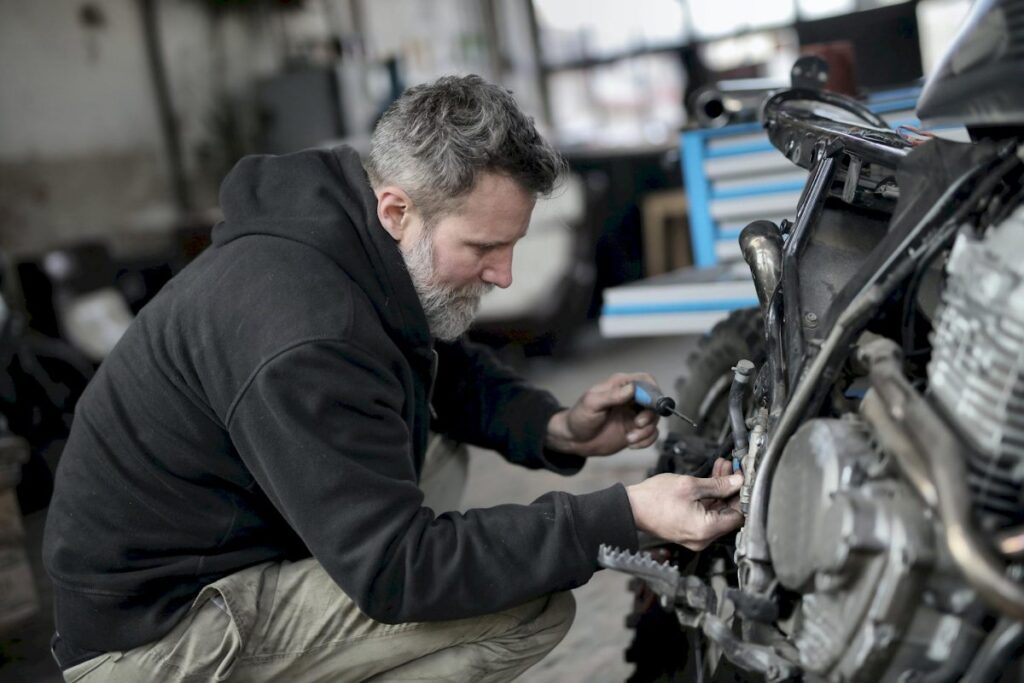
[[(989, 528), (1024, 515), (1024, 209), (950, 254), (930, 398), (970, 444), (969, 487)], [(805, 672), (908, 680), (970, 658), (984, 632), (943, 529), (867, 420), (813, 419), (782, 453), (768, 543), (793, 599), (783, 630)]]

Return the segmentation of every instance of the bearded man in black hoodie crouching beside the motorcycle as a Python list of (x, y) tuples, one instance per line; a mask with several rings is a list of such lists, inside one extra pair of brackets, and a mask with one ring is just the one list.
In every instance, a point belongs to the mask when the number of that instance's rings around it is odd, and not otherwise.
[(738, 475), (424, 505), (428, 428), (566, 474), (656, 438), (648, 376), (565, 410), (462, 339), (561, 170), (476, 77), (409, 90), (366, 171), (345, 147), (239, 163), (213, 246), (78, 407), (44, 541), (67, 680), (508, 680), (601, 543), (738, 526)]

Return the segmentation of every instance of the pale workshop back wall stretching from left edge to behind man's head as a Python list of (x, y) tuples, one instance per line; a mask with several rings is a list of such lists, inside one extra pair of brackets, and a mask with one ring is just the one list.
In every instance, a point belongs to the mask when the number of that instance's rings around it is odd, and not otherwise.
[[(495, 23), (508, 85), (539, 116), (536, 66), (528, 46), (522, 51), (526, 2), (496, 0)], [(341, 110), (356, 138), (386, 103), (382, 63), (390, 56), (400, 59), (406, 85), (450, 73), (497, 76), (478, 0), (310, 0), (299, 10), (156, 4), (191, 209), (201, 215), (216, 207), (224, 173), (253, 150), (254, 88), (288, 63), (332, 63), (332, 37), (343, 48)], [(185, 220), (139, 6), (0, 0), (0, 250), (34, 253), (82, 239), (144, 244)]]

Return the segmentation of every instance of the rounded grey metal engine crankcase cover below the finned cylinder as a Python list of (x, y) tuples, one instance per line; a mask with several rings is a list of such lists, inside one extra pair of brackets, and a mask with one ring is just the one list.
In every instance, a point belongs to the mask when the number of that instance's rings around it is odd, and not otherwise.
[(768, 542), (779, 583), (800, 594), (790, 640), (805, 672), (895, 680), (886, 672), (928, 670), (948, 654), (947, 643), (929, 664), (925, 625), (941, 623), (923, 605), (934, 523), (859, 418), (811, 420), (794, 434), (772, 486)]

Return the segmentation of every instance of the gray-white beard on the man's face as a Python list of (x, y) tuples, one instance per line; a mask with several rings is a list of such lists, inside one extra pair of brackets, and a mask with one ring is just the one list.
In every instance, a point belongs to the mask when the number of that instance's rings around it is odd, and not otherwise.
[(436, 282), (434, 242), (428, 229), (409, 251), (401, 250), (401, 257), (420, 297), (431, 336), (441, 341), (455, 341), (461, 337), (476, 317), (480, 297), (493, 290), (494, 285), (476, 283), (453, 287)]

